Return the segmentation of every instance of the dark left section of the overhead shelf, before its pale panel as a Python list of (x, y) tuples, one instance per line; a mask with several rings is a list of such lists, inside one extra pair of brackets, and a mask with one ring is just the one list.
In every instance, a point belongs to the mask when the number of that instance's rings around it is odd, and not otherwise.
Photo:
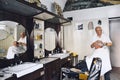
[(34, 16), (42, 12), (35, 8), (35, 4), (24, 0), (0, 0), (0, 9), (23, 16)]

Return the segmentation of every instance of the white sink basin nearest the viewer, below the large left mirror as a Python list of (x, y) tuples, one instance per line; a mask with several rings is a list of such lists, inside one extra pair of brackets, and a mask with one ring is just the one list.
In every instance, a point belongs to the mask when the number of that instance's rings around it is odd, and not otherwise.
[(16, 74), (17, 77), (24, 76), (28, 73), (36, 71), (43, 67), (43, 64), (32, 63), (32, 62), (25, 62), (20, 65), (16, 65), (13, 67), (8, 67), (4, 69), (5, 73)]

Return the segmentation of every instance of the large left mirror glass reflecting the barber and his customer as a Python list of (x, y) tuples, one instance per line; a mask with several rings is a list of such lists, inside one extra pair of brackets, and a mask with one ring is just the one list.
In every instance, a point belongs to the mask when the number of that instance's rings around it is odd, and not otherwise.
[(13, 21), (0, 21), (0, 57), (14, 58), (26, 51), (25, 28)]

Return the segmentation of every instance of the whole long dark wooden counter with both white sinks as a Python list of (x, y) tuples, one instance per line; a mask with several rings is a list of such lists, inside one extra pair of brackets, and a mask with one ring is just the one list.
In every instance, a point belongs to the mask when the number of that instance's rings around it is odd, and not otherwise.
[[(59, 80), (61, 67), (69, 66), (69, 54), (54, 54), (40, 61), (25, 62), (0, 70), (0, 80)], [(41, 79), (42, 76), (42, 79)]]

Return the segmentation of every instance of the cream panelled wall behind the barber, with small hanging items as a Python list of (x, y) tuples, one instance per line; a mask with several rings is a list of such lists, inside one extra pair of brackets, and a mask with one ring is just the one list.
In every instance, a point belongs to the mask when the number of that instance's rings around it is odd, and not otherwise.
[[(108, 18), (99, 18), (102, 21), (102, 25), (99, 25), (103, 29), (103, 33), (109, 35)], [(72, 22), (72, 26), (68, 25), (64, 27), (64, 45), (68, 51), (76, 52), (79, 54), (79, 59), (83, 59), (84, 56), (92, 54), (90, 47), (90, 41), (95, 34), (95, 27), (98, 26), (99, 19), (80, 20)], [(93, 22), (93, 29), (88, 29), (88, 23)], [(78, 26), (83, 25), (83, 29), (79, 30)]]

